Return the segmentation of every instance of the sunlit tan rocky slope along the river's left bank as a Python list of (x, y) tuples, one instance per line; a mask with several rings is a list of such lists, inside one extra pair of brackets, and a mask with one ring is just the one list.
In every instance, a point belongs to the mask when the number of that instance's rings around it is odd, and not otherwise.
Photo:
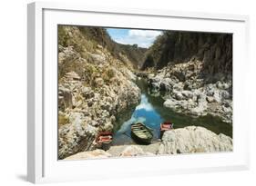
[(64, 159), (95, 150), (97, 133), (112, 131), (118, 114), (139, 102), (140, 90), (125, 55), (118, 59), (76, 26), (61, 31), (67, 41), (58, 47), (58, 158)]

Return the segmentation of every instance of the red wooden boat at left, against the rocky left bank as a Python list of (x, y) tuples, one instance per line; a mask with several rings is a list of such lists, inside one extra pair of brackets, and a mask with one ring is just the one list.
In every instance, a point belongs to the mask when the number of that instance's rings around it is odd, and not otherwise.
[(113, 140), (113, 133), (112, 132), (99, 132), (97, 135), (97, 146), (104, 151), (107, 151)]

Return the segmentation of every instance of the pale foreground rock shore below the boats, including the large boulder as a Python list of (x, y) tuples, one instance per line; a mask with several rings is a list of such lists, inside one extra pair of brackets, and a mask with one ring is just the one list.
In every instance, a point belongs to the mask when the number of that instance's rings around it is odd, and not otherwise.
[(188, 126), (165, 132), (160, 142), (149, 145), (111, 146), (107, 152), (98, 149), (90, 152), (79, 152), (65, 160), (231, 151), (232, 139), (229, 136), (222, 133), (217, 135), (203, 127)]

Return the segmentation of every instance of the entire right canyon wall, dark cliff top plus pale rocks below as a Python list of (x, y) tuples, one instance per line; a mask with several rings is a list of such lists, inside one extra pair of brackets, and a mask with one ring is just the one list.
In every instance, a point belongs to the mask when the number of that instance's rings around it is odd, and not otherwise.
[(232, 34), (166, 31), (148, 49), (142, 69), (165, 107), (232, 123)]

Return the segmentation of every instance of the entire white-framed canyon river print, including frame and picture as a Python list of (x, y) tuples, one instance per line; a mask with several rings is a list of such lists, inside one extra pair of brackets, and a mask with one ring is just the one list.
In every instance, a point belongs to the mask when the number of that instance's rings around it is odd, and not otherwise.
[(28, 5), (28, 181), (248, 169), (248, 20)]

